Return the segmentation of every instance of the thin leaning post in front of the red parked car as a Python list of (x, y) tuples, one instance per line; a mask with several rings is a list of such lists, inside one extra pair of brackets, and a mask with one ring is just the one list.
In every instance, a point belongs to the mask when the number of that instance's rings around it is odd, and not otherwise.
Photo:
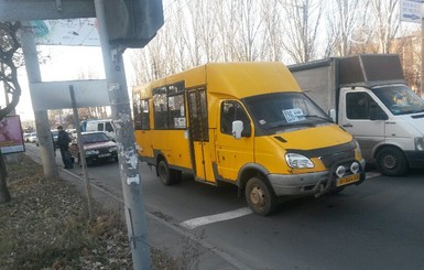
[(90, 179), (88, 177), (88, 171), (87, 171), (87, 160), (86, 160), (86, 152), (84, 151), (84, 144), (81, 141), (81, 126), (79, 125), (79, 117), (78, 117), (78, 110), (76, 106), (75, 100), (75, 93), (74, 93), (74, 86), (69, 85), (69, 95), (70, 95), (70, 101), (73, 105), (73, 112), (74, 112), (74, 122), (75, 122), (75, 129), (77, 130), (77, 142), (78, 142), (78, 149), (79, 149), (79, 163), (83, 168), (83, 174), (84, 174), (84, 183), (86, 184), (86, 195), (87, 195), (87, 205), (88, 205), (88, 219), (93, 220), (93, 203), (91, 203), (91, 185), (90, 185)]

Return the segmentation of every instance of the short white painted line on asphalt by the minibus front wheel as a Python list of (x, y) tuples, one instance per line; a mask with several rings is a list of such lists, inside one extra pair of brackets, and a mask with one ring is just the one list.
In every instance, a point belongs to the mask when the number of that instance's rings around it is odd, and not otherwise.
[(225, 222), (225, 220), (242, 217), (246, 215), (250, 215), (253, 212), (250, 208), (243, 207), (243, 208), (239, 208), (236, 210), (230, 210), (230, 212), (226, 212), (226, 213), (221, 213), (221, 214), (217, 214), (217, 215), (210, 215), (210, 216), (204, 216), (204, 217), (197, 217), (197, 218), (188, 219), (188, 220), (181, 223), (180, 225), (187, 228), (187, 229), (194, 229), (194, 228), (203, 226), (203, 225)]

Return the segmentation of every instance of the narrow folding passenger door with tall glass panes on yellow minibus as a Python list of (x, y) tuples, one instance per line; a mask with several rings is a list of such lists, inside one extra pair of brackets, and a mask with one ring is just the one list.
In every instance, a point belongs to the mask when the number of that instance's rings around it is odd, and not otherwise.
[(188, 91), (191, 158), (196, 181), (215, 182), (211, 159), (214, 144), (209, 141), (206, 89)]

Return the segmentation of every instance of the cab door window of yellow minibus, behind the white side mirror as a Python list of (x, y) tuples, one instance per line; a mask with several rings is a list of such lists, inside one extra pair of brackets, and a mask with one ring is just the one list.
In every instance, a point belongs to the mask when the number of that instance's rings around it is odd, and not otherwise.
[(224, 134), (232, 136), (232, 121), (241, 120), (243, 122), (242, 137), (250, 137), (251, 126), (248, 115), (243, 107), (237, 101), (224, 101), (220, 109), (220, 131)]

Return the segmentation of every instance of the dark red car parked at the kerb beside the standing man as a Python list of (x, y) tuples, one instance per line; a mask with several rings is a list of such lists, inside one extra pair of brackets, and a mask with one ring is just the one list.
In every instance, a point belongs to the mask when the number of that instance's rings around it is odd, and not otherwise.
[[(115, 160), (118, 161), (118, 147), (115, 141), (111, 141), (104, 132), (83, 132), (81, 142), (86, 153), (87, 164), (93, 164), (97, 161)], [(73, 160), (80, 163), (79, 148), (77, 140), (69, 143), (69, 153)]]

